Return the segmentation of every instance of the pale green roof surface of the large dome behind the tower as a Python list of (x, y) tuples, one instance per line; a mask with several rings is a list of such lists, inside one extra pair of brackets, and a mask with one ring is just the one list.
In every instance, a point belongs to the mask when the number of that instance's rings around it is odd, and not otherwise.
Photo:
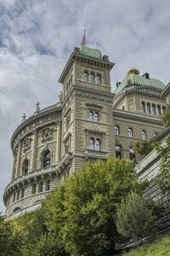
[(122, 83), (116, 88), (114, 91), (115, 94), (119, 93), (121, 90), (125, 88), (126, 85), (130, 84), (138, 84), (138, 85), (145, 85), (145, 86), (152, 86), (158, 89), (164, 90), (165, 84), (157, 79), (147, 79), (143, 76), (140, 76), (136, 73), (128, 73), (127, 77), (123, 79)]

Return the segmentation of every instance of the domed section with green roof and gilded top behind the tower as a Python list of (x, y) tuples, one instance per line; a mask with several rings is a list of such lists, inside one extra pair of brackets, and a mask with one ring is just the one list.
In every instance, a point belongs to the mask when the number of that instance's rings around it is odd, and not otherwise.
[(113, 107), (131, 112), (161, 115), (165, 108), (161, 91), (165, 87), (165, 84), (158, 79), (150, 78), (149, 73), (139, 75), (139, 70), (132, 65), (122, 83), (116, 83)]

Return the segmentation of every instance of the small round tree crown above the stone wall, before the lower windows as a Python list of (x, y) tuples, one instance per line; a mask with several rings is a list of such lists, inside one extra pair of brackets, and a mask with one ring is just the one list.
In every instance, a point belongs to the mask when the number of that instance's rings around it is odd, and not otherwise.
[(153, 145), (150, 144), (146, 139), (140, 140), (133, 145), (133, 150), (139, 153), (141, 156), (146, 156), (153, 149)]

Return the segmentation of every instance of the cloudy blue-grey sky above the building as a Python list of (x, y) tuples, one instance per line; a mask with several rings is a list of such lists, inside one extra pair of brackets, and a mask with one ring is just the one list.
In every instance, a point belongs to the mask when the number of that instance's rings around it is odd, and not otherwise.
[(0, 212), (10, 181), (10, 137), (36, 108), (58, 102), (59, 75), (87, 31), (87, 46), (116, 63), (112, 91), (134, 64), (141, 74), (170, 81), (169, 0), (0, 1)]

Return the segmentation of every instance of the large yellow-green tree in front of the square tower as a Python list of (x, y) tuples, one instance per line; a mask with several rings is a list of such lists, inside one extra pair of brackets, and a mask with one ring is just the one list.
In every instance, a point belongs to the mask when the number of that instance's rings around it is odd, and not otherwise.
[(44, 202), (48, 230), (71, 255), (112, 255), (119, 238), (116, 203), (145, 186), (138, 182), (133, 161), (109, 157), (88, 164)]

